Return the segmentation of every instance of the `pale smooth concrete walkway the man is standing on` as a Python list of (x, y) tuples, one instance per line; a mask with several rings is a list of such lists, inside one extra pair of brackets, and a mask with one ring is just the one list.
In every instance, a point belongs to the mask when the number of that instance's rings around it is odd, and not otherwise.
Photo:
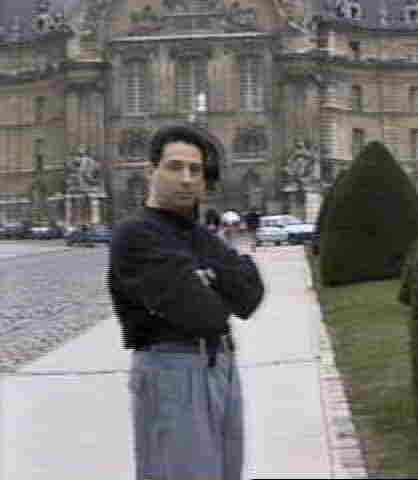
[[(320, 382), (320, 310), (302, 247), (261, 248), (262, 306), (232, 319), (246, 428), (243, 480), (335, 478)], [(2, 479), (134, 480), (115, 318), (1, 382)], [(181, 479), (179, 479), (181, 480)]]

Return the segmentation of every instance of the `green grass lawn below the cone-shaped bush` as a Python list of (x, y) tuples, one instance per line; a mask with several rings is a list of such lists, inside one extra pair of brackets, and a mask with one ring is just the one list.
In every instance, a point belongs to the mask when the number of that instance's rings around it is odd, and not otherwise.
[(311, 260), (324, 322), (351, 402), (371, 478), (418, 478), (409, 356), (410, 308), (399, 280), (323, 287)]

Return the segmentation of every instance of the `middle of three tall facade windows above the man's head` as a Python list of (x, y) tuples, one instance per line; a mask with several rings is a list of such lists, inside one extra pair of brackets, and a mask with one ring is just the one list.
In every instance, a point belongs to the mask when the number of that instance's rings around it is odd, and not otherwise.
[(176, 98), (180, 110), (198, 107), (198, 96), (208, 90), (206, 59), (181, 59), (176, 65)]

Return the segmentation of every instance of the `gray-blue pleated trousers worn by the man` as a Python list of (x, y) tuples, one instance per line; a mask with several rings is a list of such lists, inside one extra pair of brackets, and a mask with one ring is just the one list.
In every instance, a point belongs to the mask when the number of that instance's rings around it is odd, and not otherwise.
[(133, 353), (136, 480), (240, 480), (241, 384), (233, 353), (216, 357)]

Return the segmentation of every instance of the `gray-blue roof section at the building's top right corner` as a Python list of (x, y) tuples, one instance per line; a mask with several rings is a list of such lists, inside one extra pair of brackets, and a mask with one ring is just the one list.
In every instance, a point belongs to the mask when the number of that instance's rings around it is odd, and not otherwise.
[[(351, 20), (336, 16), (338, 4), (344, 3), (344, 0), (320, 0), (320, 13), (322, 17), (334, 18), (341, 23), (358, 25), (363, 28), (384, 28), (388, 30), (417, 30), (417, 23), (408, 23), (404, 20), (405, 7), (417, 6), (415, 0), (348, 0), (348, 3), (358, 4), (362, 10), (360, 20)], [(380, 22), (381, 12), (386, 9), (387, 24)]]

